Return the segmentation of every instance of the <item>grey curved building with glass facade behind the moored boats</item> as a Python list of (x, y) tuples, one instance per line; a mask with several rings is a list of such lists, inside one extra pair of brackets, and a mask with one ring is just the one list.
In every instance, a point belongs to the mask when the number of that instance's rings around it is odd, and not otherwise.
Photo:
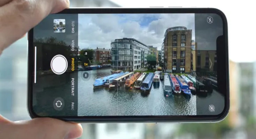
[(133, 71), (148, 66), (146, 44), (133, 39), (115, 39), (111, 42), (111, 70)]

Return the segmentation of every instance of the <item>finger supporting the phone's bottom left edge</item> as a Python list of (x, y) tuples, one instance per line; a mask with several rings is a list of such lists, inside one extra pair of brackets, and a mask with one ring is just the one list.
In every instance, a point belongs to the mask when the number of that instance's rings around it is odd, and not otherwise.
[(0, 139), (75, 139), (82, 132), (80, 124), (53, 118), (11, 122), (0, 115)]

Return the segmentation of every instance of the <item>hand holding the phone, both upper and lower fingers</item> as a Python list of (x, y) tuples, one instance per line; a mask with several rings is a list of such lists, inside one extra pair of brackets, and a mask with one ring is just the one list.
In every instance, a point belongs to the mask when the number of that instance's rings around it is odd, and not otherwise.
[[(50, 13), (69, 7), (69, 0), (0, 0), (0, 54)], [(80, 124), (53, 118), (11, 122), (0, 115), (0, 139), (74, 139)]]

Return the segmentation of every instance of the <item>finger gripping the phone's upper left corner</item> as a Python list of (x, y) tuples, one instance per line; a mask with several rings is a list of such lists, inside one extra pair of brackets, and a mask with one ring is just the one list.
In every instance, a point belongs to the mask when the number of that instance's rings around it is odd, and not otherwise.
[(69, 7), (69, 0), (12, 0), (0, 7), (0, 50), (20, 39), (50, 13)]

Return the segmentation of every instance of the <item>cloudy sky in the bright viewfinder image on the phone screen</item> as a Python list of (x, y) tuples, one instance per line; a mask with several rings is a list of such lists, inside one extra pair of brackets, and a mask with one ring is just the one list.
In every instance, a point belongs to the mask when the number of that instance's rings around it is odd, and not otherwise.
[(173, 26), (192, 29), (194, 14), (79, 14), (79, 47), (110, 48), (117, 38), (134, 38), (161, 50), (165, 30)]

